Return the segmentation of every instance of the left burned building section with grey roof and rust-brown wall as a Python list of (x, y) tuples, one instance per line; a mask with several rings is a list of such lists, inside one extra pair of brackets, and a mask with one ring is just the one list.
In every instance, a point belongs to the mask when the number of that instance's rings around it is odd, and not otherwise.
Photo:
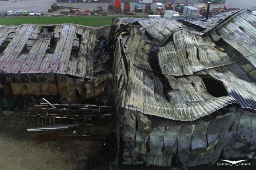
[(12, 105), (20, 106), (42, 97), (109, 105), (111, 58), (102, 49), (109, 35), (110, 26), (0, 26), (1, 96), (10, 96)]

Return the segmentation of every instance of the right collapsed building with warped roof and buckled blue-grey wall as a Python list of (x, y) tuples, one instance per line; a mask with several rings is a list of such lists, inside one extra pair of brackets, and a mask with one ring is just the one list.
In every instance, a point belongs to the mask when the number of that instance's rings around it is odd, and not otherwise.
[(220, 156), (255, 158), (256, 17), (250, 11), (208, 21), (115, 23), (113, 90), (123, 164), (172, 166), (175, 157), (193, 167)]

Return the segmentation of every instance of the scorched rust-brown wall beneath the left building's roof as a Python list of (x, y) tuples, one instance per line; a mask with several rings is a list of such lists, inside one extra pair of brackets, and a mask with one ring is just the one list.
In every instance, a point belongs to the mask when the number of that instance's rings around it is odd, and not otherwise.
[(1, 74), (0, 78), (0, 98), (6, 107), (40, 103), (42, 98), (51, 103), (98, 105), (111, 105), (113, 100), (112, 74), (96, 79), (61, 74)]

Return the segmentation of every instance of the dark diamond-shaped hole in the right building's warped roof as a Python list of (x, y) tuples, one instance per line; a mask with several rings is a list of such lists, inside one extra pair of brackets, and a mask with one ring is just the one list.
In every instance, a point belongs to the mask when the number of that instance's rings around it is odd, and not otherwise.
[(202, 78), (207, 92), (214, 97), (227, 96), (227, 90), (223, 82), (213, 79), (212, 77)]

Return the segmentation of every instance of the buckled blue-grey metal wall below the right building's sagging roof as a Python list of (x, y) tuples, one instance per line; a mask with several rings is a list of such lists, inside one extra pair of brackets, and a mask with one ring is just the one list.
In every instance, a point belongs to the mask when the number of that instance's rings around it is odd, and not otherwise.
[(123, 164), (171, 167), (176, 156), (185, 167), (213, 165), (221, 155), (239, 159), (256, 148), (256, 116), (236, 107), (226, 116), (194, 125), (166, 122), (130, 110), (124, 110), (123, 115)]

